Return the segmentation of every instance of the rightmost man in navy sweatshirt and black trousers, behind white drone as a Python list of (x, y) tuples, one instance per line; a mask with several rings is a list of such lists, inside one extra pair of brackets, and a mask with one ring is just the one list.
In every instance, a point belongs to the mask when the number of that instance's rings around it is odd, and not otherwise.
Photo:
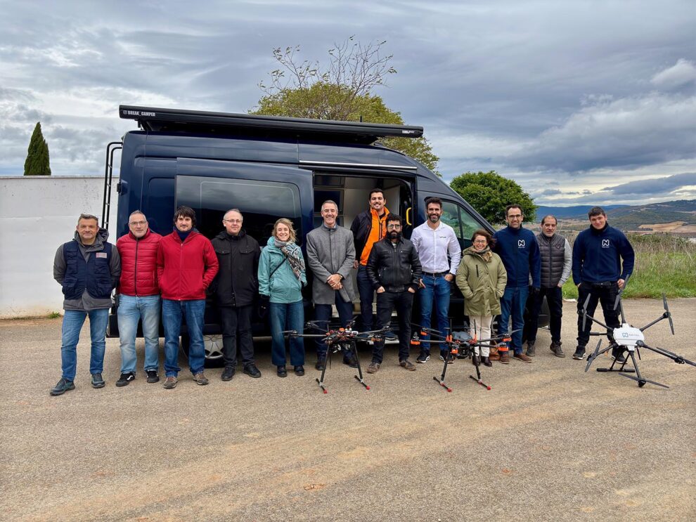
[[(578, 286), (578, 347), (573, 358), (585, 357), (585, 346), (590, 339), (592, 321), (583, 320), (583, 307), (587, 296), (588, 315), (594, 315), (597, 301), (602, 304), (605, 324), (619, 327), (619, 312), (614, 310), (617, 292), (624, 287), (626, 278), (633, 272), (633, 247), (624, 233), (607, 223), (607, 214), (601, 207), (593, 207), (587, 213), (590, 227), (578, 234), (573, 245), (573, 282)], [(583, 323), (585, 323), (583, 325)], [(610, 343), (614, 343), (611, 335)], [(612, 357), (623, 362), (617, 348)]]

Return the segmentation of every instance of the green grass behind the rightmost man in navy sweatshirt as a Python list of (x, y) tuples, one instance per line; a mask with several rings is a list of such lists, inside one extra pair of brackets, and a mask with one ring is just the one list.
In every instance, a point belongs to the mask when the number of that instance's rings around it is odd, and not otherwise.
[[(696, 297), (696, 244), (666, 234), (629, 234), (636, 252), (636, 266), (626, 288), (626, 297), (656, 299)], [(563, 285), (566, 299), (577, 299), (578, 289), (570, 278)]]

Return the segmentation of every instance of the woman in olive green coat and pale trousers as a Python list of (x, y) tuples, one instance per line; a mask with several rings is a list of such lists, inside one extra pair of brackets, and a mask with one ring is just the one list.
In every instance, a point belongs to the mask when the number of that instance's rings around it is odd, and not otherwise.
[[(464, 313), (469, 324), (475, 327), (477, 339), (491, 338), (493, 316), (501, 313), (501, 297), (508, 282), (508, 273), (498, 254), (491, 251), (495, 240), (486, 230), (477, 230), (471, 237), (473, 245), (462, 252), (456, 282), (464, 295)], [(479, 355), (478, 347), (475, 348)], [(482, 363), (491, 366), (490, 347), (481, 347)], [(499, 357), (499, 355), (498, 355)]]

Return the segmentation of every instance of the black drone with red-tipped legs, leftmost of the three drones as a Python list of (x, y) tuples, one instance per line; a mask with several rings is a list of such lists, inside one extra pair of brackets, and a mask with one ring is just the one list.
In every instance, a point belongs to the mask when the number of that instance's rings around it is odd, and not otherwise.
[[(333, 355), (334, 353), (343, 351), (352, 354), (358, 365), (358, 374), (354, 375), (354, 377), (360, 384), (362, 384), (365, 387), (366, 390), (369, 390), (370, 386), (368, 386), (368, 384), (363, 379), (363, 370), (360, 367), (360, 359), (358, 357), (358, 350), (355, 346), (355, 342), (358, 335), (361, 336), (361, 339), (365, 339), (367, 336), (369, 336), (368, 340), (370, 341), (382, 341), (385, 337), (385, 332), (387, 332), (389, 328), (384, 327), (378, 330), (370, 330), (369, 332), (358, 332), (357, 330), (353, 329), (355, 319), (350, 321), (345, 328), (337, 329), (327, 329), (326, 326), (318, 325), (318, 322), (326, 323), (327, 321), (308, 321), (304, 325), (304, 327), (306, 329), (314, 329), (324, 333), (302, 334), (300, 332), (297, 332), (297, 330), (285, 330), (285, 332), (281, 333), (285, 335), (285, 337), (310, 337), (314, 339), (321, 339), (321, 341), (326, 343), (328, 347), (328, 363), (330, 363), (331, 355)], [(324, 386), (324, 375), (326, 374), (326, 367), (327, 365), (324, 365), (323, 370), (321, 370), (321, 377), (319, 377), (318, 379), (314, 379), (319, 384), (319, 388), (321, 388), (321, 391), (323, 391), (323, 393), (328, 393), (326, 386)]]

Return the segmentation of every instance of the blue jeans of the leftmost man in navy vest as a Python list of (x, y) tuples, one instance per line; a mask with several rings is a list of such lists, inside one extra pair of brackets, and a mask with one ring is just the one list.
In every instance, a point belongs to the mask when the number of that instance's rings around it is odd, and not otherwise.
[(66, 310), (63, 316), (63, 339), (60, 346), (60, 363), (63, 369), (63, 379), (75, 380), (77, 369), (77, 343), (79, 331), (84, 325), (84, 320), (89, 315), (89, 337), (91, 340), (91, 353), (89, 355), (89, 373), (101, 373), (104, 370), (104, 351), (106, 350), (106, 325), (109, 321), (109, 309), (91, 310)]

